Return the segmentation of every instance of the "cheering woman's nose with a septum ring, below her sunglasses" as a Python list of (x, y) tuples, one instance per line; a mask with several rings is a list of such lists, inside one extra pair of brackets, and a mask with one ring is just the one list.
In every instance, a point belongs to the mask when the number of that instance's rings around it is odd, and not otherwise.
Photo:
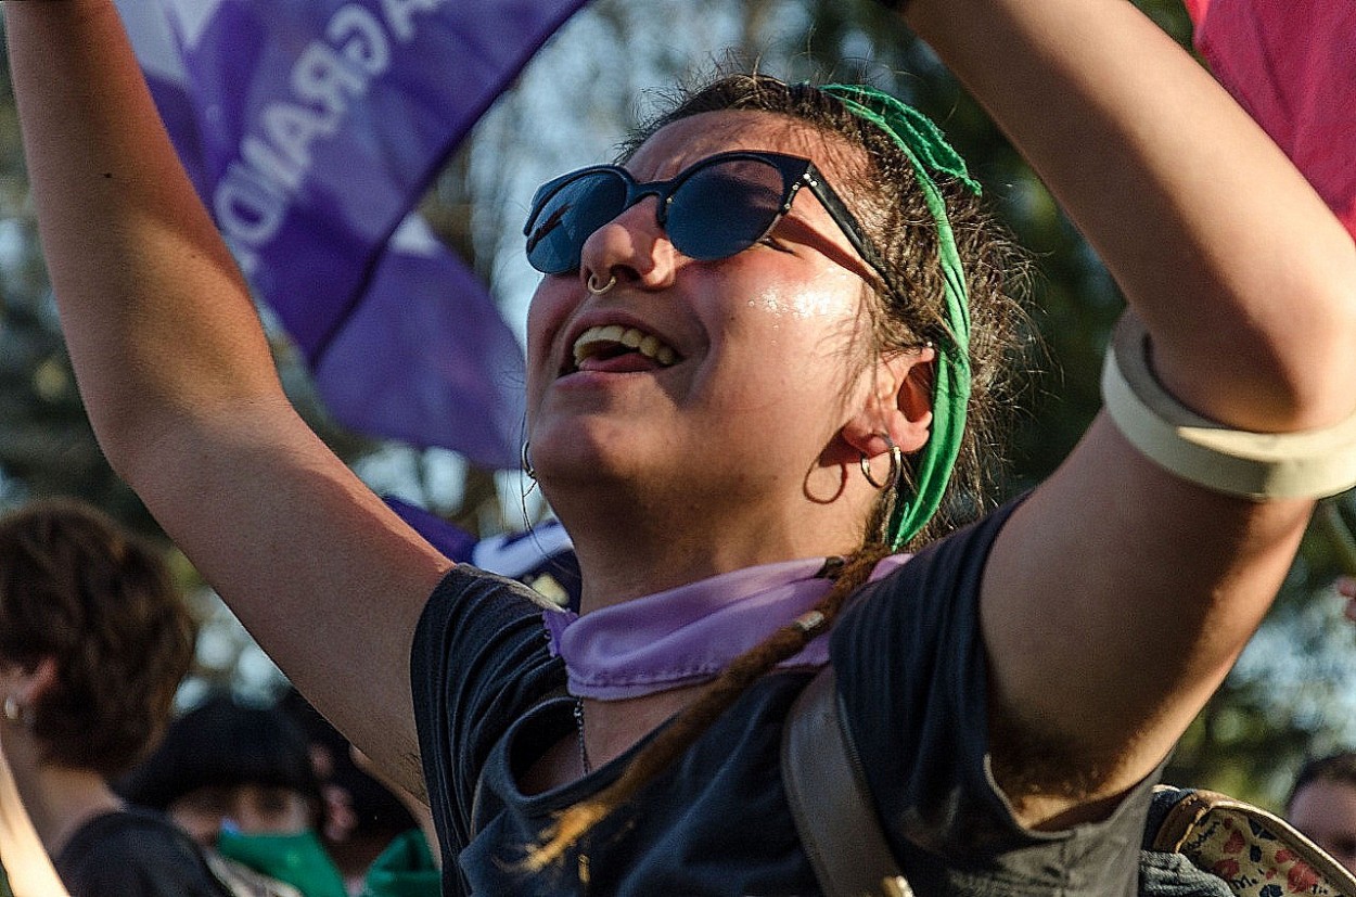
[(659, 201), (647, 196), (589, 234), (579, 253), (583, 283), (607, 283), (660, 290), (673, 283), (678, 251), (659, 225)]

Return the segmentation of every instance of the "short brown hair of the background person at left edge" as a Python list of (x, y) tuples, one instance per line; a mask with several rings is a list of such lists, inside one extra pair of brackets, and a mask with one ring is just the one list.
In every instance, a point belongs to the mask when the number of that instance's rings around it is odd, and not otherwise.
[(195, 626), (160, 554), (68, 500), (0, 518), (0, 660), (56, 660), (35, 702), (46, 760), (117, 775), (170, 719)]

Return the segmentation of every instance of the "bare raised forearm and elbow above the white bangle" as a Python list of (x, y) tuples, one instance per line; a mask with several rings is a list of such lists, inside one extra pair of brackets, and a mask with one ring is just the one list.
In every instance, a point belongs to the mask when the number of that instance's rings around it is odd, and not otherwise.
[(1127, 0), (915, 0), (910, 23), (1096, 247), (1184, 402), (1352, 412), (1356, 249), (1275, 144)]

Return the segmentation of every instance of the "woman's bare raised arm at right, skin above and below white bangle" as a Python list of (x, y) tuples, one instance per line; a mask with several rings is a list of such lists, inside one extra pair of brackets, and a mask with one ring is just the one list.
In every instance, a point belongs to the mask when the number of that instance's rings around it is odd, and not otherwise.
[[(1182, 404), (1262, 432), (1356, 411), (1351, 237), (1128, 0), (914, 0), (909, 22), (1096, 247)], [(1162, 760), (1310, 512), (1188, 484), (1097, 419), (999, 537), (982, 592), (995, 760), (1024, 821), (1096, 813)]]

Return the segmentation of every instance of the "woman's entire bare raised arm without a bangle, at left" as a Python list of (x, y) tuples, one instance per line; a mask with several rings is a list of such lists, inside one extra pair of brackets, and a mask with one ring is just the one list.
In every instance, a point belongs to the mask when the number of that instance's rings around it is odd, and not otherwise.
[(285, 398), (113, 0), (4, 15), (43, 251), (100, 446), (306, 696), (422, 793), (410, 646), (450, 562)]

